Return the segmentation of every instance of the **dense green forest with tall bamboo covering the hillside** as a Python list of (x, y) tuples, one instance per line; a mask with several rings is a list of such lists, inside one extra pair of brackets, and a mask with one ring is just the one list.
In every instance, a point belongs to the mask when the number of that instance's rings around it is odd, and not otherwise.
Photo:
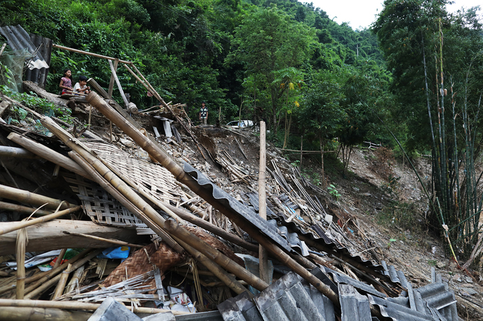
[[(371, 140), (431, 154), (433, 220), (467, 256), (482, 208), (483, 21), (449, 2), (386, 0), (370, 28), (352, 30), (296, 0), (1, 0), (0, 26), (132, 61), (195, 122), (205, 101), (208, 123), (264, 119), (277, 147)], [(48, 91), (65, 68), (109, 84), (105, 60), (54, 49)], [(157, 104), (124, 68), (119, 79), (138, 108)]]

